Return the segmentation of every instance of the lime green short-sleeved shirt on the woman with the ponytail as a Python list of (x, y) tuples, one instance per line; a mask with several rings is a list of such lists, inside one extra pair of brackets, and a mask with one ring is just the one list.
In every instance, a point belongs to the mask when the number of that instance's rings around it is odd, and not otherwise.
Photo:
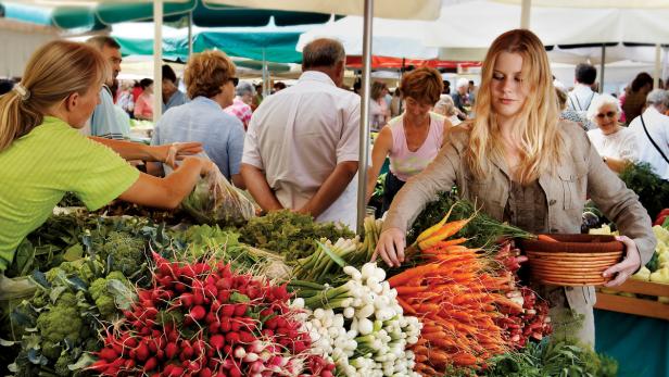
[(139, 171), (114, 151), (51, 116), (0, 151), (0, 271), (65, 192), (97, 210), (139, 178)]

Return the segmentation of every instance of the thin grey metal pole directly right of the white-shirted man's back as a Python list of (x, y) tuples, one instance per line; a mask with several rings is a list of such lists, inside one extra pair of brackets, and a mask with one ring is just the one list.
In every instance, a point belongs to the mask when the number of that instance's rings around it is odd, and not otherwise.
[(361, 99), (361, 150), (357, 164), (357, 233), (365, 233), (367, 209), (367, 156), (369, 154), (369, 84), (371, 78), (371, 23), (374, 0), (365, 0), (365, 23), (363, 26), (363, 83)]

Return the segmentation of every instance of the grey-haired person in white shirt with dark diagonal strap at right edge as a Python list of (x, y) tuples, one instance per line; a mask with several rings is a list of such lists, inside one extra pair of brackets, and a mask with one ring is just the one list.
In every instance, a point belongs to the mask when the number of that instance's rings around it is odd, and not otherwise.
[(643, 114), (630, 123), (630, 130), (636, 136), (639, 146), (638, 159), (651, 164), (653, 171), (661, 178), (669, 179), (669, 162), (661, 154), (669, 158), (669, 116), (665, 115), (669, 110), (669, 91), (664, 89), (651, 91), (646, 97), (646, 104)]

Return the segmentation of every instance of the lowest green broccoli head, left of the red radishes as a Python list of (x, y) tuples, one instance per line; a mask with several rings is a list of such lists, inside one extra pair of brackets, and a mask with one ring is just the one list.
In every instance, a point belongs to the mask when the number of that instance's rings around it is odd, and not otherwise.
[(84, 331), (84, 321), (77, 309), (76, 296), (63, 292), (50, 310), (40, 313), (37, 328), (42, 338), (54, 343), (62, 340), (77, 342)]

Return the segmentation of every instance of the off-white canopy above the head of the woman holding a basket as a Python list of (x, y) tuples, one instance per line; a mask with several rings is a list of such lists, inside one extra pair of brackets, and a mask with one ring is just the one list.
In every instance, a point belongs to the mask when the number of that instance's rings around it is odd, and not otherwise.
[[(521, 9), (519, 1), (515, 2), (478, 0), (445, 5), (440, 17), (428, 23), (424, 42), (447, 49), (485, 49), (500, 34), (519, 27)], [(532, 2), (530, 13), (530, 29), (544, 45), (669, 42), (669, 8), (551, 8)], [(443, 50), (440, 56), (449, 59), (447, 52)]]

